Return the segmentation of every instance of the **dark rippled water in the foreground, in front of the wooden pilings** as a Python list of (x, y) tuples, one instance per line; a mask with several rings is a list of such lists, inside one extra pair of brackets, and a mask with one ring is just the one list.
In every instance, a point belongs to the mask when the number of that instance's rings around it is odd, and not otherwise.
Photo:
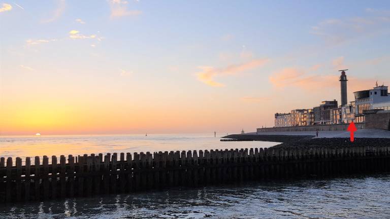
[(0, 205), (0, 218), (390, 218), (390, 174)]

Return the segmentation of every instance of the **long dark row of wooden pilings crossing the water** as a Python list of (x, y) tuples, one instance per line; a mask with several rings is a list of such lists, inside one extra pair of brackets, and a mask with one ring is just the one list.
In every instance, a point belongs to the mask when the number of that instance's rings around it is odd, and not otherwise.
[(390, 170), (390, 145), (0, 158), (0, 203)]

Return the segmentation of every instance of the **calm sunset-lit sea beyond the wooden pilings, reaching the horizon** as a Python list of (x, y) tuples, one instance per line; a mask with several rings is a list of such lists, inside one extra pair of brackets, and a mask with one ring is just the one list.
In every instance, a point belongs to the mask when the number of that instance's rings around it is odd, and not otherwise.
[(50, 158), (52, 155), (70, 154), (268, 148), (278, 144), (262, 141), (223, 142), (219, 141), (220, 137), (213, 134), (0, 136), (0, 156), (20, 157), (24, 162), (25, 157), (44, 155)]

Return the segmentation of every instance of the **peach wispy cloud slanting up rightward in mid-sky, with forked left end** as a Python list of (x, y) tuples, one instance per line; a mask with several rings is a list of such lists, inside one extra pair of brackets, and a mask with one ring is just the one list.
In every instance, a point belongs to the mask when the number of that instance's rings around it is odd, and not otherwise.
[(211, 66), (199, 66), (202, 71), (197, 72), (198, 80), (212, 87), (223, 87), (224, 85), (216, 82), (215, 77), (221, 77), (226, 75), (236, 75), (240, 72), (254, 69), (267, 63), (269, 59), (254, 59), (249, 62), (245, 62), (237, 65), (229, 65), (224, 68), (215, 68)]

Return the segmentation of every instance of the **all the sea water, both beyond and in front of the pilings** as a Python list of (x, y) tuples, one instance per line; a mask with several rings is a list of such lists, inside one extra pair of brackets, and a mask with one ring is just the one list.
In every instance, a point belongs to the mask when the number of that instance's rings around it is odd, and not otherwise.
[[(0, 136), (1, 157), (268, 148), (214, 134)], [(49, 159), (50, 160), (50, 159)], [(390, 218), (390, 173), (0, 204), (0, 218)]]

